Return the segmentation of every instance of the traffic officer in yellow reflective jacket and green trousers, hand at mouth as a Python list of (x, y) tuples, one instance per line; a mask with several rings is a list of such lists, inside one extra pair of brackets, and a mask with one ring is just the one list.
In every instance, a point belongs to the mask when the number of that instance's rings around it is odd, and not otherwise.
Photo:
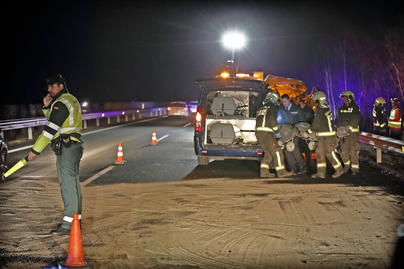
[(82, 195), (79, 181), (79, 165), (83, 154), (81, 139), (81, 108), (77, 99), (67, 92), (61, 75), (46, 79), (49, 94), (44, 98), (42, 110), (48, 121), (34, 146), (28, 154), (28, 160), (38, 156), (51, 142), (55, 151), (57, 175), (63, 203), (64, 217), (50, 234), (61, 236), (70, 234), (73, 214), (79, 214), (81, 222)]

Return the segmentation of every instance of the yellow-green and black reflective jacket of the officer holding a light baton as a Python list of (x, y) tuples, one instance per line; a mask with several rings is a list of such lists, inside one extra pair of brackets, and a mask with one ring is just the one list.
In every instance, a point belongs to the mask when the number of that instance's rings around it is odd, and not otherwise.
[(54, 142), (61, 134), (68, 134), (73, 141), (83, 142), (80, 104), (67, 89), (61, 90), (50, 106), (42, 105), (42, 111), (48, 121), (31, 149), (33, 153), (39, 155), (49, 141)]

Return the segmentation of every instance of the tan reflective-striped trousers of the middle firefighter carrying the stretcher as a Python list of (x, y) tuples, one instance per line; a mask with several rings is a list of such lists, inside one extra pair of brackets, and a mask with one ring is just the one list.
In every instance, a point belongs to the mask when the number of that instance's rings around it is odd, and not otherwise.
[(335, 154), (335, 137), (319, 137), (316, 146), (317, 173), (326, 173), (326, 159), (334, 167), (335, 171), (342, 171), (341, 162)]

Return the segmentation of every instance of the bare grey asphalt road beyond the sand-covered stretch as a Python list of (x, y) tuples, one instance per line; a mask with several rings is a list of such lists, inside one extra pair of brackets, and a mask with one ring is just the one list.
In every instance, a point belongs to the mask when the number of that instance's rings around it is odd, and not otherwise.
[[(112, 127), (112, 128), (111, 128)], [(153, 130), (159, 141), (150, 146)], [(86, 129), (83, 132), (84, 154), (80, 163), (80, 181), (90, 179), (88, 186), (116, 183), (150, 183), (204, 178), (259, 178), (259, 162), (247, 160), (210, 161), (209, 165), (198, 165), (194, 153), (194, 121), (188, 118), (152, 118), (120, 125), (107, 125)], [(114, 165), (118, 144), (122, 143), (125, 165)], [(27, 146), (32, 142), (11, 145), (9, 149)], [(29, 149), (12, 152), (8, 167), (27, 156)], [(57, 182), (56, 156), (47, 146), (45, 150), (15, 172), (9, 180), (36, 178)], [(110, 167), (114, 165), (114, 167)], [(315, 162), (312, 163), (315, 167)], [(111, 170), (96, 179), (94, 175), (106, 168)], [(345, 174), (339, 179), (312, 179), (308, 174), (292, 177), (295, 184), (340, 183), (353, 186), (377, 186), (392, 194), (402, 194), (403, 184), (373, 167), (362, 158), (361, 174), (354, 177)], [(328, 171), (332, 173), (332, 171)], [(273, 182), (273, 181), (271, 181)]]

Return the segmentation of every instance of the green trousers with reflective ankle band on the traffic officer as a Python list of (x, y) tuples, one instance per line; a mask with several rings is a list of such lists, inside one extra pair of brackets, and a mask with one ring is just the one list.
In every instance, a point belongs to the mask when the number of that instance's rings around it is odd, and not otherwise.
[(74, 213), (77, 213), (81, 220), (82, 195), (79, 181), (79, 167), (83, 149), (83, 143), (72, 143), (69, 148), (62, 147), (61, 155), (56, 156), (60, 193), (65, 204), (62, 221), (62, 227), (65, 229), (72, 227)]

